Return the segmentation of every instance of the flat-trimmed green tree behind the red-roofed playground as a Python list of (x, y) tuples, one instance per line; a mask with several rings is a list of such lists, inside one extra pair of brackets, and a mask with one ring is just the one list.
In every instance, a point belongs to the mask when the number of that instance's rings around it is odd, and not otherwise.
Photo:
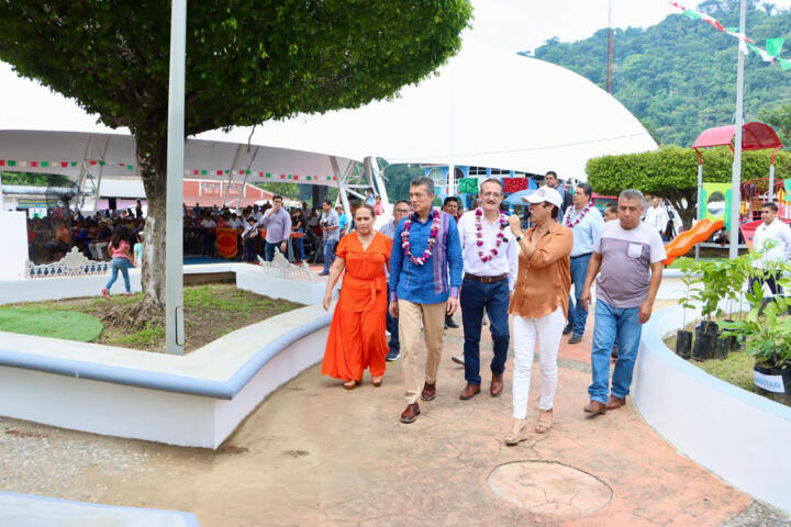
[[(745, 152), (742, 180), (769, 177), (771, 150)], [(729, 182), (733, 153), (728, 147), (703, 150), (703, 181)], [(779, 152), (776, 158), (778, 180), (791, 178), (791, 154)], [(624, 189), (637, 189), (666, 198), (678, 211), (684, 228), (697, 215), (698, 154), (692, 148), (666, 146), (654, 152), (603, 156), (588, 160), (588, 182), (601, 194), (617, 195)]]

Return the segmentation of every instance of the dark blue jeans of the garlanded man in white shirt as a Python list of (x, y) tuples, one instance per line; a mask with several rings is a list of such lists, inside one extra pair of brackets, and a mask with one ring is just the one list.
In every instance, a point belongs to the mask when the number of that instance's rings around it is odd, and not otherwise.
[(509, 328), (508, 279), (499, 282), (481, 283), (466, 280), (461, 284), (460, 294), (461, 324), (465, 332), (465, 379), (470, 384), (480, 385), (480, 334), (483, 310), (489, 314), (494, 358), (491, 361), (492, 373), (505, 371), (508, 359)]

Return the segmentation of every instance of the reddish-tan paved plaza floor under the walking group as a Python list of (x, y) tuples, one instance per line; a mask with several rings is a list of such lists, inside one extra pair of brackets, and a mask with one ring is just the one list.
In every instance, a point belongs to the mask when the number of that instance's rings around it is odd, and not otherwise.
[[(659, 309), (659, 305), (657, 306)], [(460, 322), (460, 316), (457, 315)], [(511, 363), (501, 397), (460, 401), (460, 329), (446, 332), (435, 401), (411, 425), (401, 361), (385, 384), (345, 391), (314, 366), (269, 396), (216, 452), (2, 418), (0, 490), (192, 512), (202, 527), (781, 526), (678, 453), (632, 404), (591, 417), (590, 330), (564, 338), (555, 426), (515, 447)], [(484, 335), (488, 327), (484, 328)], [(487, 337), (488, 340), (488, 337)], [(482, 362), (491, 358), (486, 341)], [(536, 419), (537, 363), (528, 419)], [(532, 428), (532, 427), (531, 427)]]

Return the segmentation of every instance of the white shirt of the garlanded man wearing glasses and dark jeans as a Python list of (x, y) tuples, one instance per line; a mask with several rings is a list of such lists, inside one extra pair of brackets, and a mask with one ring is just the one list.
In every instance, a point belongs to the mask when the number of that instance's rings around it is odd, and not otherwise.
[[(514, 239), (511, 228), (505, 225), (502, 233), (505, 235), (498, 254), (486, 264), (481, 261), (478, 251), (484, 256), (491, 254), (497, 245), (497, 234), (501, 231), (499, 220), (490, 223), (486, 216), (481, 216), (481, 231), (483, 233), (483, 245), (478, 246), (478, 229), (476, 228), (476, 211), (465, 212), (458, 221), (459, 239), (461, 240), (461, 253), (464, 255), (465, 272), (476, 277), (498, 277), (508, 274), (509, 289), (513, 290), (519, 270), (519, 244)], [(508, 242), (505, 242), (508, 240)]]

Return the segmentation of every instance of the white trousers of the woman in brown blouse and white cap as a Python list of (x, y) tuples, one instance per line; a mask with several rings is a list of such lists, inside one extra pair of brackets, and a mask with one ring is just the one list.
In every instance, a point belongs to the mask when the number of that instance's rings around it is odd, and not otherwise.
[(527, 416), (530, 397), (530, 375), (533, 368), (533, 354), (538, 344), (538, 365), (542, 385), (538, 410), (550, 410), (557, 390), (557, 351), (566, 325), (562, 307), (541, 318), (514, 316), (514, 374), (513, 374), (513, 417), (524, 419)]

